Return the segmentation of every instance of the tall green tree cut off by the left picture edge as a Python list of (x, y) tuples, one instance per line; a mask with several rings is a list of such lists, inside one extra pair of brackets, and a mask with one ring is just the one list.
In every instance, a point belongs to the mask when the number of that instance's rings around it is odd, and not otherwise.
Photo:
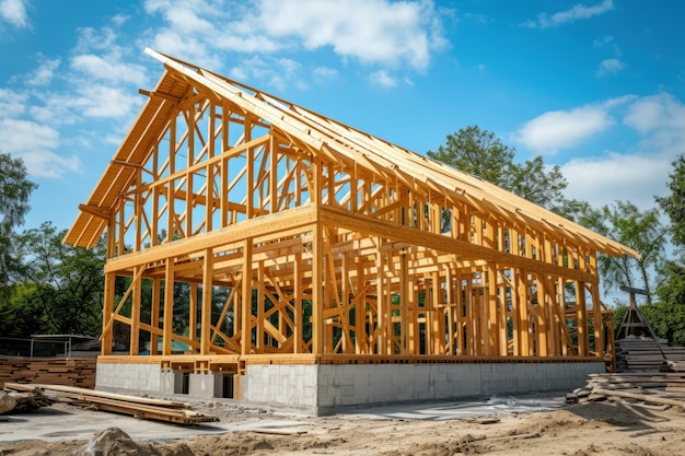
[[(13, 266), (14, 230), (24, 223), (30, 211), (28, 198), (37, 185), (26, 178), (21, 159), (0, 153), (0, 287), (7, 292)], [(5, 295), (7, 297), (7, 295)]]

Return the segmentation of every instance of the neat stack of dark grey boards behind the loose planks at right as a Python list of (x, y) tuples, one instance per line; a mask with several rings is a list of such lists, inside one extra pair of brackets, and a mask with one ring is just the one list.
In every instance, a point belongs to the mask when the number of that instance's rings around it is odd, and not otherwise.
[(664, 361), (685, 361), (684, 347), (669, 347), (665, 339), (629, 336), (616, 340), (616, 363), (620, 372), (659, 371)]

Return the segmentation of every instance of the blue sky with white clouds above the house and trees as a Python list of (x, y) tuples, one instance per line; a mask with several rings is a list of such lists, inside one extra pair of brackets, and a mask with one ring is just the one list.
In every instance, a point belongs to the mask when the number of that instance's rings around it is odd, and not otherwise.
[(469, 125), (593, 206), (665, 194), (685, 152), (677, 1), (0, 0), (0, 151), (71, 225), (162, 66), (150, 47), (418, 153)]

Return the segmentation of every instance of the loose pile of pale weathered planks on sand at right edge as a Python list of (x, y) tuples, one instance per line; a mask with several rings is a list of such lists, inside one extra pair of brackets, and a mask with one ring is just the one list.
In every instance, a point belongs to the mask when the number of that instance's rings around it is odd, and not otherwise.
[(620, 399), (685, 410), (685, 363), (666, 362), (661, 367), (661, 372), (590, 374), (588, 384), (569, 394), (567, 402)]

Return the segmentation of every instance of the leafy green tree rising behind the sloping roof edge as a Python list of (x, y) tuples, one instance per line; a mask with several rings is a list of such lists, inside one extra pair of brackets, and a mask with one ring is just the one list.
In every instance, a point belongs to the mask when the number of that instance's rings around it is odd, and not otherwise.
[(564, 198), (568, 183), (559, 165), (547, 169), (542, 156), (515, 163), (516, 150), (478, 126), (448, 135), (444, 145), (427, 154), (544, 208), (559, 212), (569, 206)]

